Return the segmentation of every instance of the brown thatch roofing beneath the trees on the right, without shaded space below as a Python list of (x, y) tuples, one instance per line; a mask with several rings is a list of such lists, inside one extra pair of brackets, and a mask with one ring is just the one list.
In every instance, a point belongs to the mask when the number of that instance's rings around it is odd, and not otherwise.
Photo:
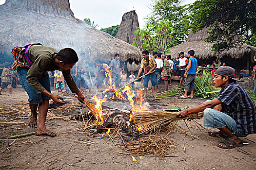
[(172, 47), (169, 53), (172, 58), (175, 58), (177, 53), (180, 53), (181, 51), (186, 54), (188, 51), (194, 50), (195, 57), (199, 59), (207, 59), (214, 56), (217, 58), (229, 56), (231, 58), (238, 59), (248, 54), (250, 56), (254, 56), (256, 54), (256, 47), (243, 44), (242, 46), (231, 48), (230, 50), (223, 51), (217, 55), (216, 52), (212, 51), (213, 43), (203, 41), (207, 36), (208, 34), (206, 30), (199, 31), (196, 34), (193, 34), (192, 31), (190, 31), (187, 41)]

